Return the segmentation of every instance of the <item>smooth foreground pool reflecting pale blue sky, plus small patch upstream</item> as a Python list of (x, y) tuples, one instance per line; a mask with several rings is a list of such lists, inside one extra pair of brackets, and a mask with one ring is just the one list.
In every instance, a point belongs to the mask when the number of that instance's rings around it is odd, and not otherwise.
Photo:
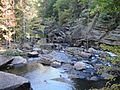
[[(55, 58), (67, 59), (65, 55), (61, 55), (62, 53), (58, 53)], [(70, 79), (63, 69), (43, 66), (36, 61), (30, 61), (26, 66), (9, 69), (7, 72), (27, 78), (33, 90), (88, 90), (92, 87), (103, 87), (105, 84), (103, 81), (90, 82)]]

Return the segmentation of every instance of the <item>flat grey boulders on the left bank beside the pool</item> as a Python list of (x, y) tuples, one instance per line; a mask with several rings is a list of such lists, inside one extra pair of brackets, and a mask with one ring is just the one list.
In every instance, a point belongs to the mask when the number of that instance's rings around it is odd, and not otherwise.
[[(23, 57), (16, 56), (14, 58), (8, 58), (0, 56), (0, 69), (7, 65), (20, 65), (26, 64), (27, 61)], [(32, 90), (30, 82), (14, 74), (0, 71), (0, 90)]]

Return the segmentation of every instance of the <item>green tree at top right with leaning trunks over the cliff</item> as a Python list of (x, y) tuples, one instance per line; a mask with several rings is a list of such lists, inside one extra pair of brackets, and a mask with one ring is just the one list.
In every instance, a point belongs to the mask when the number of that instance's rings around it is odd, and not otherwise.
[[(82, 3), (87, 5), (88, 9), (88, 19), (91, 15), (95, 15), (95, 18), (93, 19), (93, 22), (88, 28), (88, 32), (86, 34), (89, 34), (89, 32), (92, 30), (92, 28), (95, 26), (97, 20), (99, 22), (102, 21), (105, 26), (107, 26), (107, 31), (105, 34), (103, 34), (99, 39), (99, 41), (105, 37), (110, 31), (116, 29), (119, 25), (119, 11), (120, 11), (120, 2), (118, 0), (82, 0)], [(96, 17), (97, 15), (97, 17)], [(88, 20), (89, 23), (89, 20)], [(88, 41), (88, 38), (87, 38)]]

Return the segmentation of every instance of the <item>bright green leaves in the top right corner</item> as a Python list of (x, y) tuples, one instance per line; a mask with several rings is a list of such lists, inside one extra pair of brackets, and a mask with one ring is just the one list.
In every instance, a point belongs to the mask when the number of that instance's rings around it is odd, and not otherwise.
[(119, 0), (82, 0), (84, 4), (88, 4), (91, 12), (119, 12)]

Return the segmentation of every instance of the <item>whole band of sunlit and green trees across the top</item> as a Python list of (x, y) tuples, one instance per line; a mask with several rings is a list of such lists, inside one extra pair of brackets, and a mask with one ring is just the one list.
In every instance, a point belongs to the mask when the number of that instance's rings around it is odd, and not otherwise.
[(15, 34), (18, 35), (16, 38), (20, 37), (21, 39), (32, 36), (33, 29), (43, 30), (44, 27), (41, 24), (43, 24), (44, 19), (53, 20), (59, 25), (63, 25), (81, 17), (93, 18), (96, 14), (99, 14), (99, 21), (101, 22), (113, 20), (111, 28), (116, 28), (119, 25), (120, 16), (119, 0), (0, 1), (1, 27), (4, 25), (7, 30), (15, 31)]

